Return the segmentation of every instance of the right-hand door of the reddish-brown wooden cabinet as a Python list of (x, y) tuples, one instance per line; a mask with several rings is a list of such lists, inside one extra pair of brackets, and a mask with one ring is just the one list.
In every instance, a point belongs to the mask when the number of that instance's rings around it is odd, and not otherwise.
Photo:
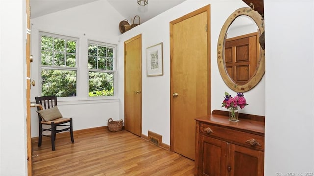
[(232, 176), (263, 176), (264, 152), (230, 145), (230, 159)]

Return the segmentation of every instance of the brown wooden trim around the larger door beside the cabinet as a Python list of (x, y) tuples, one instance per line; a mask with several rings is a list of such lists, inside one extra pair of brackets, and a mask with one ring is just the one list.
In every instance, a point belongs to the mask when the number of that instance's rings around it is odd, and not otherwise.
[[(183, 20), (186, 20), (188, 18), (191, 18), (195, 15), (201, 14), (203, 12), (207, 12), (207, 55), (208, 55), (208, 89), (207, 89), (207, 95), (208, 95), (208, 99), (207, 102), (208, 104), (211, 105), (211, 38), (210, 38), (210, 4), (207, 6), (204, 6), (198, 10), (195, 10), (191, 13), (188, 13), (176, 20), (173, 20), (170, 22), (170, 151), (174, 151), (174, 136), (173, 136), (173, 128), (174, 128), (174, 120), (173, 120), (173, 110), (172, 110), (172, 106), (173, 106), (173, 98), (172, 98), (172, 93), (173, 93), (173, 25), (176, 23), (179, 23)], [(207, 114), (211, 113), (211, 107), (208, 107), (207, 109)], [(196, 117), (195, 117), (196, 118)]]

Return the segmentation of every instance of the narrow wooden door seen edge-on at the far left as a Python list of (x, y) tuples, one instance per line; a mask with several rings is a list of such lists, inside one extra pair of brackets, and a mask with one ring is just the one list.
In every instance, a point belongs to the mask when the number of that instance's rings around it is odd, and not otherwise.
[(27, 128), (27, 173), (28, 176), (33, 175), (32, 169), (32, 148), (31, 148), (31, 118), (30, 118), (30, 3), (29, 0), (26, 0), (26, 128)]

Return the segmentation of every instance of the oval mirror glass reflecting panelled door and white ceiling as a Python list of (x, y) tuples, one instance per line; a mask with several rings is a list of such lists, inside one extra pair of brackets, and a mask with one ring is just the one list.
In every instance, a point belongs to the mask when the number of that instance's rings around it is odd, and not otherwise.
[(259, 30), (254, 20), (240, 15), (231, 23), (225, 41), (225, 67), (229, 77), (244, 85), (255, 74), (260, 53)]

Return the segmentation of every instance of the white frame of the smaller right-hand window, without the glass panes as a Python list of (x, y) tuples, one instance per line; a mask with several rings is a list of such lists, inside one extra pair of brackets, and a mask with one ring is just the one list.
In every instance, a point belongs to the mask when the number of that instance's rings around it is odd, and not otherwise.
[[(112, 99), (115, 98), (117, 95), (117, 45), (115, 44), (110, 44), (110, 43), (105, 43), (105, 42), (99, 42), (95, 40), (88, 40), (87, 41), (87, 50), (89, 45), (99, 45), (103, 47), (112, 47), (113, 48), (113, 69), (112, 70), (103, 70), (103, 69), (88, 69), (87, 68), (87, 74), (89, 75), (89, 72), (104, 72), (104, 73), (113, 73), (113, 95), (112, 96), (95, 96), (95, 97), (90, 97), (87, 95), (89, 99)], [(87, 52), (87, 62), (88, 62), (88, 52)], [(89, 89), (89, 80), (87, 82), (87, 88)], [(87, 91), (89, 92), (89, 90)]]

